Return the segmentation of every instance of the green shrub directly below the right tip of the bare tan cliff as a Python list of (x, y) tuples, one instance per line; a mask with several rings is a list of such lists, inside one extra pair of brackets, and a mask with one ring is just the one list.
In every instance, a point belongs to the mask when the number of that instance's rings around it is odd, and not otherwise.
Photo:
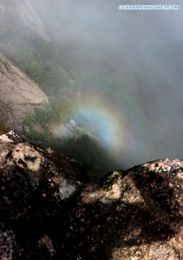
[(42, 101), (41, 103), (45, 107), (36, 107), (35, 108), (35, 117), (36, 117), (36, 120), (40, 123), (40, 125), (42, 127), (45, 127), (45, 124), (47, 124), (49, 120), (54, 121), (54, 119), (57, 116), (56, 116), (56, 112), (52, 109), (52, 107), (46, 101)]

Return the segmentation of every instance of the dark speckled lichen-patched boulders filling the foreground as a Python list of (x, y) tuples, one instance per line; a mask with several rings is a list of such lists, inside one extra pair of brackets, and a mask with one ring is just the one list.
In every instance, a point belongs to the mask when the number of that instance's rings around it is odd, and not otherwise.
[(183, 161), (91, 183), (75, 160), (8, 135), (0, 141), (0, 259), (183, 259)]

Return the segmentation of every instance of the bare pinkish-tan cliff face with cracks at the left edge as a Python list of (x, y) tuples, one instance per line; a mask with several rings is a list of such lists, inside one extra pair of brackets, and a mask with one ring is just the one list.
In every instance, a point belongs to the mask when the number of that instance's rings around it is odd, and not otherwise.
[(39, 86), (0, 53), (0, 116), (7, 126), (23, 133), (23, 122), (48, 97)]

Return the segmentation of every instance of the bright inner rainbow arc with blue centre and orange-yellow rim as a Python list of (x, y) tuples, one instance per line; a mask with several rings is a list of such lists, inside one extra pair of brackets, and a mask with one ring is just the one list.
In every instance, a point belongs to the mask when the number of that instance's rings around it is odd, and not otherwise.
[[(74, 104), (76, 114), (95, 125), (101, 143), (114, 155), (126, 150), (132, 136), (121, 108), (98, 96), (84, 96)], [(77, 116), (76, 116), (77, 122)]]

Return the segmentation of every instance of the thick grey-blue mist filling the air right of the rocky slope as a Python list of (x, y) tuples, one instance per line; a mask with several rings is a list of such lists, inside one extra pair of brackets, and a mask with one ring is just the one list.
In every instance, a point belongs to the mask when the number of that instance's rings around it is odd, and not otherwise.
[(116, 165), (182, 159), (181, 1), (163, 2), (179, 10), (129, 11), (118, 9), (123, 0), (29, 2), (80, 89), (74, 120), (95, 126)]

